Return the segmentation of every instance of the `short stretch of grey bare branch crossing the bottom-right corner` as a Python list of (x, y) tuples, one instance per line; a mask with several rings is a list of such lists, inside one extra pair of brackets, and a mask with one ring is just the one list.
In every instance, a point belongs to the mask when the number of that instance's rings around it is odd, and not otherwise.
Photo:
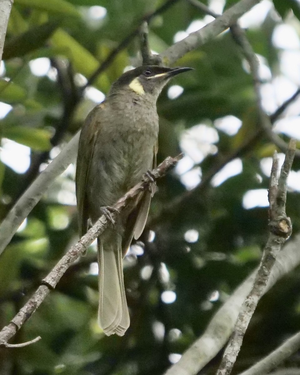
[[(272, 351), (269, 356), (263, 358), (254, 366), (240, 375), (264, 375), (276, 368), (280, 363), (288, 359), (293, 353), (296, 353), (300, 348), (300, 332), (286, 340), (281, 346)], [(298, 374), (299, 374), (298, 369)]]

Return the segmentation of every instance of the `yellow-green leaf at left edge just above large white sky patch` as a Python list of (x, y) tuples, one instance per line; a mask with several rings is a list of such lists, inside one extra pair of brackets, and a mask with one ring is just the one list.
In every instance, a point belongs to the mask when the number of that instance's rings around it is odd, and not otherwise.
[(13, 126), (3, 129), (2, 135), (15, 142), (24, 144), (33, 150), (48, 151), (51, 148), (51, 134), (45, 129)]

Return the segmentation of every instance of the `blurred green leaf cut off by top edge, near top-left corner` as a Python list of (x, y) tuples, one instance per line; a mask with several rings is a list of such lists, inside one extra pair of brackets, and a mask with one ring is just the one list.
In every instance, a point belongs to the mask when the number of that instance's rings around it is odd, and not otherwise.
[(64, 13), (69, 16), (80, 17), (80, 13), (76, 7), (65, 0), (15, 0), (15, 4), (46, 10), (47, 12), (51, 13)]

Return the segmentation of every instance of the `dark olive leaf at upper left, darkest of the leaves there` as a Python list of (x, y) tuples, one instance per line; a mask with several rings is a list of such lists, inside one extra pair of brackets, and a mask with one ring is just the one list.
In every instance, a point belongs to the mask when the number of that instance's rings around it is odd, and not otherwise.
[(3, 49), (4, 60), (20, 57), (43, 46), (45, 41), (57, 28), (58, 21), (51, 21), (40, 26), (32, 27), (23, 34), (15, 36), (5, 42)]

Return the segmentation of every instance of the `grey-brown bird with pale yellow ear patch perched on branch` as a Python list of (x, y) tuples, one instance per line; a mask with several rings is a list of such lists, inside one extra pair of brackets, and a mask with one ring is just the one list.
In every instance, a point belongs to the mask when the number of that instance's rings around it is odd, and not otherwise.
[[(172, 77), (191, 69), (144, 65), (126, 71), (87, 116), (75, 178), (80, 237), (102, 214), (112, 219), (113, 204), (156, 168), (157, 98)], [(98, 323), (107, 336), (123, 336), (130, 324), (123, 257), (133, 237), (138, 239), (145, 227), (153, 194), (150, 190), (143, 192), (130, 210), (111, 220), (113, 225), (97, 239)]]

